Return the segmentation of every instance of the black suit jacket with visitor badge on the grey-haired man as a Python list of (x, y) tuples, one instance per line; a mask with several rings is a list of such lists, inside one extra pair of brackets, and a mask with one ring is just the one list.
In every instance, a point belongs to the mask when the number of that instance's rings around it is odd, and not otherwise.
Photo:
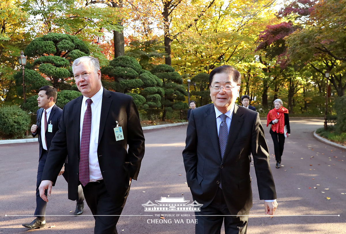
[[(68, 155), (71, 200), (78, 194), (82, 100), (80, 96), (64, 106), (59, 131), (53, 138), (42, 175), (42, 180), (55, 184)], [(116, 141), (113, 130), (116, 121), (122, 127), (124, 140)], [(144, 156), (143, 130), (131, 96), (103, 89), (97, 154), (104, 184), (113, 200), (121, 203), (129, 187), (129, 178), (137, 179)]]

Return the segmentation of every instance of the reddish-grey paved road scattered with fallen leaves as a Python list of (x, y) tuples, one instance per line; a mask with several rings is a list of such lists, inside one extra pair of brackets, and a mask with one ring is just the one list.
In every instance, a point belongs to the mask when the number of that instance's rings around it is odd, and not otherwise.
[[(264, 125), (279, 207), (275, 213), (277, 216), (264, 216), (263, 201), (258, 200), (252, 166), (254, 207), (249, 218), (249, 234), (346, 233), (346, 194), (342, 194), (346, 193), (346, 152), (313, 138), (313, 130), (321, 126), (322, 119), (291, 118), (292, 134), (286, 139), (282, 168), (275, 169), (273, 143), (269, 128)], [(145, 212), (142, 206), (149, 200), (155, 203), (155, 200), (168, 196), (184, 197), (185, 200), (192, 201), (185, 184), (181, 155), (185, 146), (185, 133), (186, 126), (145, 131), (146, 153), (142, 169), (138, 181), (133, 181), (131, 185), (122, 213), (124, 216), (119, 219), (119, 233), (194, 233), (192, 212)], [(89, 208), (84, 209), (83, 216), (71, 215), (75, 202), (67, 199), (67, 183), (62, 177), (58, 178), (52, 197), (49, 198), (46, 214), (54, 216), (46, 217), (46, 228), (27, 231), (21, 226), (22, 223), (33, 220), (35, 210), (37, 144), (0, 146), (0, 234), (93, 233), (93, 217), (90, 216)], [(155, 223), (162, 222), (156, 221), (163, 220), (155, 216), (160, 214), (175, 217), (165, 218), (172, 223)], [(182, 215), (187, 216), (181, 217)], [(180, 219), (184, 223), (176, 224)]]

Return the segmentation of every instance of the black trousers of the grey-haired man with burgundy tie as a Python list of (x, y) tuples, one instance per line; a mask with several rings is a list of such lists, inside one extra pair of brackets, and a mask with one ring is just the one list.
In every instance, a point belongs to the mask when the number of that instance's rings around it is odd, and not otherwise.
[[(83, 187), (85, 201), (95, 218), (95, 234), (114, 234), (118, 233), (116, 225), (121, 211), (124, 208), (130, 187), (126, 191), (123, 201), (115, 202), (109, 195), (106, 186), (100, 182), (89, 182)], [(108, 215), (108, 216), (97, 216)]]

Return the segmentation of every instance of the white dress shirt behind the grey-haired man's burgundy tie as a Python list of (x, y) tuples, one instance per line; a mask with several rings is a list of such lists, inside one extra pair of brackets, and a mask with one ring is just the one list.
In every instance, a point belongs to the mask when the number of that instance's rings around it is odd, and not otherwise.
[[(90, 130), (90, 146), (89, 146), (89, 182), (95, 182), (97, 180), (102, 180), (102, 174), (100, 170), (99, 160), (97, 157), (97, 147), (99, 140), (99, 130), (100, 130), (100, 120), (101, 120), (101, 106), (102, 106), (102, 95), (103, 87), (91, 97), (92, 103), (91, 107), (91, 130)], [(83, 96), (82, 108), (81, 108), (81, 123), (80, 123), (80, 133), (79, 139), (82, 138), (82, 127), (84, 112), (87, 107), (86, 99), (89, 99)]]

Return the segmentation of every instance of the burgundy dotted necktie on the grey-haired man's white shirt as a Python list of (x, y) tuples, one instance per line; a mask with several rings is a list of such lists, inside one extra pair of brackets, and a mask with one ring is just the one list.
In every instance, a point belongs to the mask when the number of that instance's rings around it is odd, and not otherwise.
[(83, 186), (89, 183), (89, 145), (90, 145), (90, 131), (91, 131), (91, 102), (92, 100), (86, 99), (86, 110), (84, 112), (81, 149), (79, 157), (79, 181)]

